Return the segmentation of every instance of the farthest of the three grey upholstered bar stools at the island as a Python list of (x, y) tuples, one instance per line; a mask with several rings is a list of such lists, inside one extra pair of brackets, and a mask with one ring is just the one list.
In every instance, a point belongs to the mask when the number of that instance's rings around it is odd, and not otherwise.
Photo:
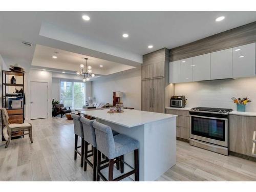
[[(80, 166), (83, 166), (83, 157), (84, 157), (84, 140), (83, 140), (83, 129), (82, 123), (80, 121), (79, 115), (72, 115), (74, 122), (74, 132), (75, 132), (75, 156), (74, 159), (76, 160), (77, 154), (81, 156), (81, 163)], [(81, 138), (81, 146), (77, 146), (78, 143), (78, 136)], [(78, 151), (78, 148), (81, 148), (81, 152)]]

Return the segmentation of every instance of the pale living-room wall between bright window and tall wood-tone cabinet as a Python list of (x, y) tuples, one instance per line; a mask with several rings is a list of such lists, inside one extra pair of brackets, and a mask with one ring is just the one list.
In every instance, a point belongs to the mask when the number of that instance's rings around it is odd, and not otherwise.
[(124, 106), (141, 110), (141, 68), (131, 69), (92, 82), (94, 102), (113, 103), (113, 92), (122, 91)]

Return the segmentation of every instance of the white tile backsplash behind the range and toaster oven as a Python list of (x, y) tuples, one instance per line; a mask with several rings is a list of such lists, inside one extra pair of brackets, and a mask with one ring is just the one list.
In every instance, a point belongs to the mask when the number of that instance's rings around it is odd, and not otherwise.
[(175, 95), (185, 95), (186, 107), (209, 106), (236, 111), (231, 97), (248, 97), (247, 112), (256, 112), (256, 77), (175, 84)]

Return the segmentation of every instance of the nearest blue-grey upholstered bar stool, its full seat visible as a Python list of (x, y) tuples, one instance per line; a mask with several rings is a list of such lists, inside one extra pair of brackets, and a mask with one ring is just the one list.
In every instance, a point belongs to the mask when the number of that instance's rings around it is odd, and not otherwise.
[[(99, 122), (93, 122), (95, 129), (96, 143), (97, 143), (97, 181), (101, 178), (103, 181), (120, 181), (125, 177), (135, 174), (135, 181), (139, 181), (139, 142), (126, 135), (118, 134), (113, 136), (110, 126), (104, 125)], [(119, 160), (118, 157), (134, 151), (134, 169), (130, 172), (123, 174), (117, 178), (113, 178), (114, 163)], [(100, 156), (104, 153), (109, 158), (109, 180), (107, 180), (102, 173), (101, 169), (105, 166), (100, 166)], [(115, 160), (116, 159), (116, 160)], [(123, 162), (123, 158), (121, 158)], [(123, 162), (124, 163), (124, 162)]]

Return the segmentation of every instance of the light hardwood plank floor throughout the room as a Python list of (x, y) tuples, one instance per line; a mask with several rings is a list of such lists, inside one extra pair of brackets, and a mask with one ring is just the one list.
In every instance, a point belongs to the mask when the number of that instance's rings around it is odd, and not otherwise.
[[(0, 181), (92, 181), (92, 169), (74, 161), (73, 121), (65, 117), (32, 120), (26, 136), (0, 143)], [(107, 168), (104, 170), (107, 175)], [(115, 176), (120, 173), (115, 172)], [(125, 179), (129, 180), (129, 179)], [(256, 162), (223, 156), (177, 141), (177, 164), (157, 181), (256, 181)]]

